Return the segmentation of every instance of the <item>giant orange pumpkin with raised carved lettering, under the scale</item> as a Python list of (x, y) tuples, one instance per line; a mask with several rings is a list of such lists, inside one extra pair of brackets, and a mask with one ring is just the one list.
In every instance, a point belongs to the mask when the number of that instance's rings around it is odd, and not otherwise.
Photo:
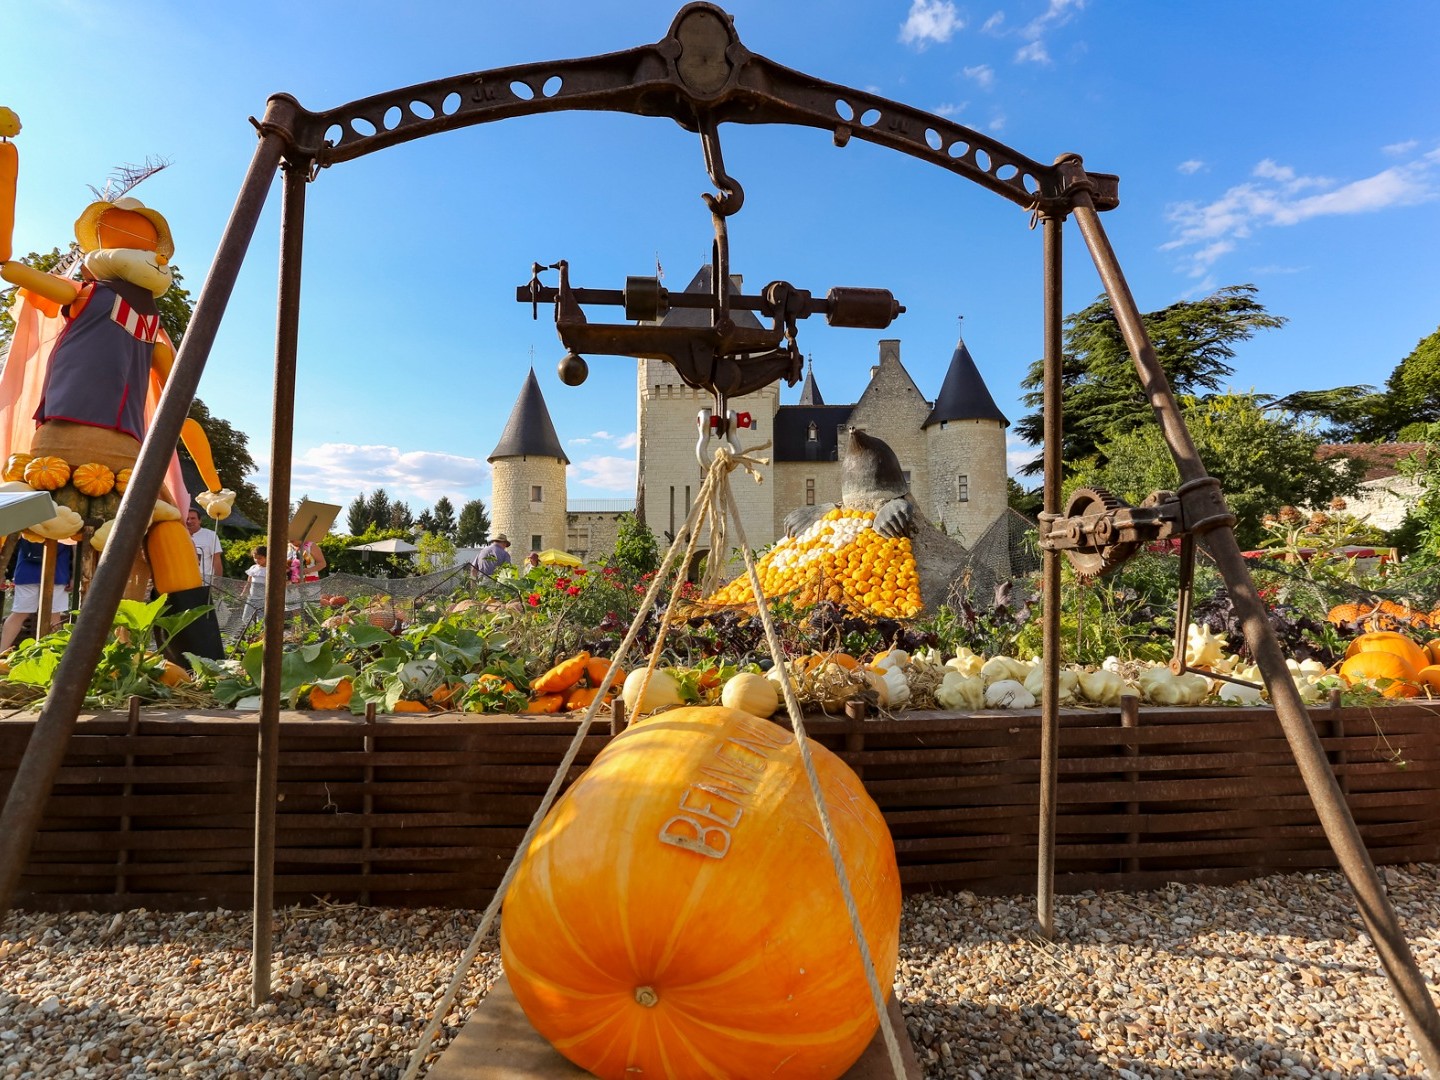
[[(894, 845), (855, 775), (812, 756), (888, 994)], [(877, 1027), (795, 736), (732, 708), (611, 742), (530, 845), (500, 948), (530, 1022), (603, 1080), (831, 1080)]]

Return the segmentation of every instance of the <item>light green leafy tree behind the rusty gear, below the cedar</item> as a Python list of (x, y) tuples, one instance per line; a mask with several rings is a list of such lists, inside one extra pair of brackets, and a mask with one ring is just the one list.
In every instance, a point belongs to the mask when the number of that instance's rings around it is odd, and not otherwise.
[[(1365, 477), (1358, 458), (1316, 461), (1320, 435), (1313, 425), (1272, 416), (1256, 395), (1225, 393), (1182, 399), (1185, 426), (1205, 469), (1220, 481), (1236, 514), (1241, 547), (1263, 539), (1261, 518), (1283, 505), (1323, 507), (1338, 495), (1352, 495)], [(1117, 435), (1100, 446), (1099, 459), (1076, 477), (1128, 503), (1152, 491), (1174, 491), (1179, 472), (1158, 425)]]

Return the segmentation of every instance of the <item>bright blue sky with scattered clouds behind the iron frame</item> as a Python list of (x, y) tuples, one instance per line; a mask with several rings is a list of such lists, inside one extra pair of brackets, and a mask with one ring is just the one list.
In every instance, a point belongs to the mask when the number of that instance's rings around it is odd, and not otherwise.
[[(324, 109), (510, 63), (655, 42), (680, 3), (92, 3), (7, 10), (0, 104), (24, 124), (16, 249), (71, 239), (118, 164), (171, 161), (135, 194), (160, 209), (197, 295), (274, 92)], [(1335, 0), (733, 0), (740, 39), (789, 68), (986, 132), (1038, 161), (1120, 176), (1104, 215), (1142, 310), (1240, 282), (1289, 318), (1243, 346), (1233, 384), (1283, 393), (1382, 383), (1440, 323), (1434, 7)], [(809, 128), (721, 128), (746, 189), (732, 265), (824, 294), (884, 287), (888, 331), (801, 324), (829, 402), (864, 387), (880, 337), (927, 395), (965, 340), (999, 406), (1041, 351), (1040, 233), (959, 177)], [(708, 258), (698, 140), (668, 120), (560, 114), (409, 143), (320, 174), (307, 206), (294, 494), (383, 485), (420, 510), (490, 495), (485, 456), (533, 363), (573, 462), (572, 498), (634, 494), (634, 363), (590, 357), (560, 384), (531, 261), (577, 285)], [(248, 432), (266, 487), (278, 184), (200, 396)], [(1066, 229), (1066, 310), (1100, 284)], [(596, 310), (592, 320), (619, 318)], [(793, 402), (798, 387), (782, 390)], [(1012, 446), (1012, 461), (1035, 451)]]

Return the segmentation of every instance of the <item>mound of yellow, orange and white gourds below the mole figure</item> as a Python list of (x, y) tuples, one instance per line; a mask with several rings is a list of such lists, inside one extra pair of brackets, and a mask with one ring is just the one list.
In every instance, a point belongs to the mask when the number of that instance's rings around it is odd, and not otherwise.
[[(831, 510), (796, 537), (786, 537), (756, 564), (768, 599), (796, 606), (832, 600), (891, 619), (920, 613), (920, 576), (909, 537), (886, 539), (870, 523), (873, 511)], [(711, 603), (755, 599), (742, 573), (708, 598)]]

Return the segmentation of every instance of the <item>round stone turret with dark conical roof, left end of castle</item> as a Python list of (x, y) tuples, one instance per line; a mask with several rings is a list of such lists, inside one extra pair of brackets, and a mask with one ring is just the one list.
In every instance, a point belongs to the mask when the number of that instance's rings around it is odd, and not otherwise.
[(518, 562), (527, 552), (566, 546), (564, 467), (570, 459), (554, 433), (534, 369), (491, 451), (490, 517), (494, 533), (510, 537)]

